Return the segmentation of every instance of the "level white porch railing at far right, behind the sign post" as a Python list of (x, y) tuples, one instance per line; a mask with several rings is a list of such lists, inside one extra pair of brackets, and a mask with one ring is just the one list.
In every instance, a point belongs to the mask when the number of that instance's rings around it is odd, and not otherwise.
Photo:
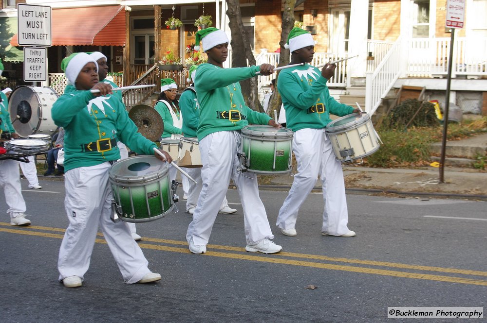
[[(412, 38), (408, 41), (410, 77), (446, 76), (450, 38)], [(451, 75), (487, 76), (487, 37), (454, 40)]]

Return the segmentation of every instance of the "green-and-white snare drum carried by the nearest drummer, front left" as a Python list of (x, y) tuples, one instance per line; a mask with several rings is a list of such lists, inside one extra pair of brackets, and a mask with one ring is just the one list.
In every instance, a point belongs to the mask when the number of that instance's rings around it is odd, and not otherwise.
[(150, 155), (130, 157), (112, 165), (109, 178), (121, 220), (153, 221), (172, 210), (168, 170), (168, 163)]

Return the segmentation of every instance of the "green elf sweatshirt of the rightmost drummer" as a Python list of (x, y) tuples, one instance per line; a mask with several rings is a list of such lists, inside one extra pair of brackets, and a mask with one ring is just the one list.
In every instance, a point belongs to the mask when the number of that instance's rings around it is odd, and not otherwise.
[(327, 81), (318, 68), (308, 64), (279, 73), (277, 89), (286, 110), (287, 128), (321, 129), (331, 121), (330, 113), (341, 117), (354, 111), (353, 107), (335, 101)]

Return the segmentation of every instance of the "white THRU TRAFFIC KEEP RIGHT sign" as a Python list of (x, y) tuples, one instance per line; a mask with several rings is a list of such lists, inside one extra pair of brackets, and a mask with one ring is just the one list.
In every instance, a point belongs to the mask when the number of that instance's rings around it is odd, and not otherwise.
[(47, 81), (47, 48), (24, 47), (24, 81)]

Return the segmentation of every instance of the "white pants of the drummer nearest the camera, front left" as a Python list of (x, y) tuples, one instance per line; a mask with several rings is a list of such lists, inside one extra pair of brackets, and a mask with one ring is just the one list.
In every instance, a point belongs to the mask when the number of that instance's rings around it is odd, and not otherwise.
[(59, 249), (59, 280), (84, 274), (90, 266), (98, 226), (112, 252), (124, 281), (138, 282), (150, 270), (142, 250), (124, 221), (113, 223), (112, 187), (108, 180), (110, 163), (79, 167), (64, 174), (64, 206), (69, 220)]

